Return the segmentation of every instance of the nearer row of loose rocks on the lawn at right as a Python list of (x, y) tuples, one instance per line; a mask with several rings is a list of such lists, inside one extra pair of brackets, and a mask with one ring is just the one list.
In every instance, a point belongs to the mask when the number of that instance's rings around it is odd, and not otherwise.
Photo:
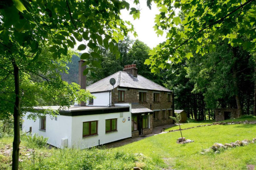
[(220, 150), (225, 150), (228, 148), (239, 147), (239, 146), (246, 146), (250, 143), (256, 143), (256, 138), (253, 138), (252, 141), (248, 139), (244, 139), (242, 141), (237, 140), (236, 142), (225, 143), (224, 145), (221, 143), (215, 143), (209, 149), (202, 150), (201, 154), (205, 154), (209, 152), (214, 152), (215, 154), (217, 154), (217, 153), (220, 153)]

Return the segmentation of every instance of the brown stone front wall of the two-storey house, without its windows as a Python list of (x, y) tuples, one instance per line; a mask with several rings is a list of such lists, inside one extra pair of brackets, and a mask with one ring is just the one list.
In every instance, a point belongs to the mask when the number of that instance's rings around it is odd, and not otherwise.
[[(154, 110), (160, 110), (160, 119), (154, 120), (152, 115), (152, 123), (153, 126), (151, 127), (157, 127), (161, 125), (167, 125), (172, 124), (173, 120), (168, 118), (168, 111), (167, 109), (172, 109), (172, 94), (171, 94), (171, 102), (168, 102), (168, 93), (169, 92), (160, 92), (160, 102), (154, 102), (154, 91), (151, 90), (145, 90), (147, 93), (147, 101), (146, 102), (140, 102), (139, 101), (139, 92), (143, 90), (139, 89), (133, 89), (133, 88), (125, 88), (125, 102), (128, 103), (139, 103), (140, 105), (145, 106), (146, 108)], [(114, 93), (112, 91), (112, 105), (114, 103), (118, 103), (118, 89), (114, 88)], [(162, 110), (166, 109), (166, 119), (163, 119)], [(171, 115), (173, 115), (173, 110), (171, 110)], [(145, 130), (146, 131), (146, 130)]]

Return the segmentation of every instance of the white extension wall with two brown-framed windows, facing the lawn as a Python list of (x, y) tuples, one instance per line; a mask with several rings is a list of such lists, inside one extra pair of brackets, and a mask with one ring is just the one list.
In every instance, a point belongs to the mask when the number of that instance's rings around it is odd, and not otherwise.
[[(128, 117), (130, 117), (130, 121), (128, 121)], [(122, 122), (123, 118), (125, 118), (125, 122)], [(105, 132), (106, 119), (117, 119), (117, 131), (110, 133)], [(82, 137), (83, 122), (95, 120), (98, 121), (98, 135)], [(72, 117), (72, 144), (75, 147), (84, 149), (87, 147), (114, 142), (116, 140), (129, 137), (131, 137), (131, 112), (123, 112), (123, 117), (120, 117), (120, 113), (106, 113)]]

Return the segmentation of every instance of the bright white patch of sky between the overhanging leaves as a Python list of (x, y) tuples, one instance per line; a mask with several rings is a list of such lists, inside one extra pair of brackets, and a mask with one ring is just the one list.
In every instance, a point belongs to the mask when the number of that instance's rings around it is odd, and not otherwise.
[(134, 25), (134, 29), (137, 32), (138, 36), (135, 38), (133, 34), (129, 34), (131, 39), (140, 40), (147, 44), (150, 48), (157, 46), (160, 42), (166, 40), (165, 34), (163, 36), (157, 37), (157, 34), (154, 31), (154, 18), (156, 14), (159, 14), (157, 6), (152, 3), (151, 10), (146, 4), (146, 0), (140, 0), (140, 5), (136, 6), (133, 4), (132, 0), (127, 0), (130, 3), (130, 8), (139, 8), (140, 9), (140, 19), (134, 20), (132, 15), (129, 14), (129, 11), (123, 9), (121, 11), (122, 20), (128, 20)]

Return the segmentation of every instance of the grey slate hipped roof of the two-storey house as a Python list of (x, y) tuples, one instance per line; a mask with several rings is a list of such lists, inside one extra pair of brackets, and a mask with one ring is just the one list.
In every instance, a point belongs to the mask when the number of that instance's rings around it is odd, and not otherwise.
[(90, 93), (110, 91), (113, 89), (113, 86), (109, 83), (109, 80), (111, 78), (116, 79), (116, 84), (114, 85), (114, 88), (138, 88), (143, 90), (145, 89), (153, 91), (171, 92), (169, 89), (164, 88), (163, 86), (160, 86), (157, 83), (154, 83), (141, 75), (138, 75), (138, 77), (134, 77), (133, 75), (126, 73), (124, 71), (118, 71), (109, 77), (101, 79), (98, 82), (95, 82), (92, 85), (87, 86), (86, 89), (89, 90)]

